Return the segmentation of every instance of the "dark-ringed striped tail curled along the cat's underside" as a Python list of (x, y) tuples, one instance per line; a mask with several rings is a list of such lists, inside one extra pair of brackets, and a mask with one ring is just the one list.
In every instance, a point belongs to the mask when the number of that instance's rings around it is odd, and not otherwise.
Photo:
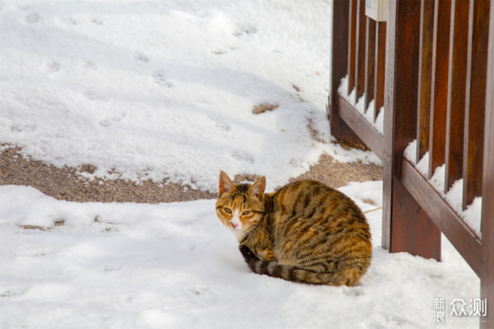
[(331, 286), (341, 286), (346, 284), (351, 287), (366, 272), (366, 267), (346, 268), (332, 273), (314, 273), (305, 269), (298, 269), (287, 265), (281, 265), (277, 261), (262, 260), (257, 258), (246, 245), (240, 245), (239, 250), (244, 256), (248, 267), (258, 274), (281, 278), (287, 281), (304, 282), (309, 284), (326, 284)]

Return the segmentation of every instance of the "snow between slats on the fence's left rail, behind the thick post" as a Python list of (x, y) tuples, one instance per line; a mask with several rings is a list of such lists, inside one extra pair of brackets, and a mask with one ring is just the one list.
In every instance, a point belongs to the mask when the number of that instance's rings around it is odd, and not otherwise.
[(384, 106), (379, 109), (379, 113), (374, 122), (374, 99), (369, 102), (367, 110), (365, 110), (365, 93), (362, 95), (355, 104), (355, 88), (352, 89), (350, 95), (348, 95), (348, 75), (342, 78), (340, 86), (338, 87), (338, 94), (340, 94), (351, 106), (357, 110), (357, 112), (366, 119), (371, 126), (384, 136)]

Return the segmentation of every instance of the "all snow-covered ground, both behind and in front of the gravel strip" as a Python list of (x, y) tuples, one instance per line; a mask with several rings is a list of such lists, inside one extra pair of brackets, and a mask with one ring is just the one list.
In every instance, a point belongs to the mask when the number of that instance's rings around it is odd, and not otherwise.
[[(102, 178), (211, 191), (220, 170), (266, 175), (272, 190), (323, 152), (379, 164), (329, 143), (330, 8), (0, 0), (0, 143), (56, 166), (93, 164)], [(261, 103), (279, 107), (252, 114)], [(381, 206), (381, 190), (340, 188), (364, 211)], [(78, 204), (0, 186), (0, 327), (431, 328), (434, 299), (478, 298), (446, 239), (442, 263), (388, 254), (381, 210), (366, 216), (368, 273), (357, 287), (315, 287), (250, 273), (214, 200)]]

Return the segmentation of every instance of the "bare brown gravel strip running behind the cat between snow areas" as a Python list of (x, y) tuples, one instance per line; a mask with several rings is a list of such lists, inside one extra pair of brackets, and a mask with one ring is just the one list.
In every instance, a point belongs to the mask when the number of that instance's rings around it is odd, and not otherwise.
[[(37, 188), (59, 200), (73, 202), (183, 202), (197, 199), (215, 199), (217, 191), (194, 190), (190, 186), (150, 180), (135, 184), (126, 180), (88, 180), (79, 171), (91, 173), (95, 167), (84, 164), (80, 169), (58, 168), (38, 160), (22, 158), (19, 147), (3, 149), (0, 154), (0, 185), (25, 185)], [(236, 175), (234, 182), (254, 182), (257, 175)], [(268, 178), (269, 179), (269, 178)], [(297, 180), (318, 180), (333, 188), (348, 182), (382, 180), (382, 167), (359, 162), (340, 163), (323, 154), (318, 164), (310, 167)]]

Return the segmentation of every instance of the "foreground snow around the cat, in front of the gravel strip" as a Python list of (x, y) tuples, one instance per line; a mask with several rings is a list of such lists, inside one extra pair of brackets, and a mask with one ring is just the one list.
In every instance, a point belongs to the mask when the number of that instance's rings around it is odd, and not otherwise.
[[(364, 211), (382, 206), (382, 182), (340, 191)], [(382, 249), (381, 210), (366, 214), (373, 260), (360, 283), (319, 287), (251, 273), (214, 208), (78, 204), (0, 186), (1, 327), (435, 328), (435, 298), (479, 296), (444, 236), (440, 263)], [(459, 320), (437, 326), (478, 328)]]

